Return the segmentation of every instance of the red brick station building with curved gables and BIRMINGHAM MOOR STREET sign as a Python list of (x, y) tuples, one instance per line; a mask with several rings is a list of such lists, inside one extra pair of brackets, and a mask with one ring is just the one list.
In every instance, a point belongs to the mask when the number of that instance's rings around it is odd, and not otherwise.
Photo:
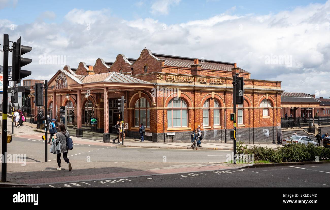
[[(116, 61), (99, 58), (94, 66), (81, 62), (78, 68), (64, 66), (48, 81), (48, 108), (59, 118), (60, 106), (67, 107), (68, 125), (77, 136), (90, 129), (104, 139), (121, 117), (117, 99), (124, 95), (126, 136), (140, 138), (139, 125), (154, 142), (190, 141), (201, 125), (203, 140), (232, 143), (233, 75), (244, 77), (244, 105), (237, 108), (237, 135), (245, 143), (273, 143), (281, 121), (281, 82), (250, 79), (250, 73), (233, 63), (152, 53), (144, 49), (137, 59), (119, 54)], [(34, 90), (31, 90), (32, 112)], [(55, 114), (56, 113), (56, 114)], [(174, 133), (174, 135), (173, 135)]]

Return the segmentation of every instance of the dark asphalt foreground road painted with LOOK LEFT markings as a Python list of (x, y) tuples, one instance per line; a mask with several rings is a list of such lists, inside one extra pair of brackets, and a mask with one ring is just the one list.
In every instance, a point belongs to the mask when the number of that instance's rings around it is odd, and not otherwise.
[(330, 187), (330, 164), (199, 171), (26, 187)]

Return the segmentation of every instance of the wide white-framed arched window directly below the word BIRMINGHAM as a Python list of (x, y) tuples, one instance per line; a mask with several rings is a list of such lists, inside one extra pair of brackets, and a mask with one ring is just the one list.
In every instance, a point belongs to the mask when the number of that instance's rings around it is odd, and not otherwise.
[(167, 105), (167, 127), (187, 127), (187, 104), (181, 98), (172, 98)]

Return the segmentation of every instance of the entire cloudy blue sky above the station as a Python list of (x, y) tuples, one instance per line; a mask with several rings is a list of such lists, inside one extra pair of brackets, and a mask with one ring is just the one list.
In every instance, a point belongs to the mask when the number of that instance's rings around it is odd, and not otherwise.
[(118, 54), (138, 58), (147, 47), (235, 62), (251, 79), (330, 97), (330, 0), (0, 0), (0, 34), (33, 47), (24, 55), (32, 58), (27, 79), (49, 80), (64, 65), (114, 62)]

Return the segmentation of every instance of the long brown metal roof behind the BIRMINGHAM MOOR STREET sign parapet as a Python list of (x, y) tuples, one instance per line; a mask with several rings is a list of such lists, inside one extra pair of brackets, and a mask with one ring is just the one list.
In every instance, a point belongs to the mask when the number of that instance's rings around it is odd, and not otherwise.
[[(160, 60), (164, 60), (165, 66), (178, 66), (178, 67), (190, 68), (192, 65), (194, 65), (194, 58), (163, 55), (157, 53), (152, 53), (152, 55)], [(199, 59), (199, 64), (202, 65), (202, 69), (210, 69), (210, 70), (231, 71), (231, 69), (234, 68), (233, 63), (227, 63), (221, 61), (203, 60), (202, 63), (201, 59)], [(244, 69), (240, 69), (240, 72), (249, 73)]]

